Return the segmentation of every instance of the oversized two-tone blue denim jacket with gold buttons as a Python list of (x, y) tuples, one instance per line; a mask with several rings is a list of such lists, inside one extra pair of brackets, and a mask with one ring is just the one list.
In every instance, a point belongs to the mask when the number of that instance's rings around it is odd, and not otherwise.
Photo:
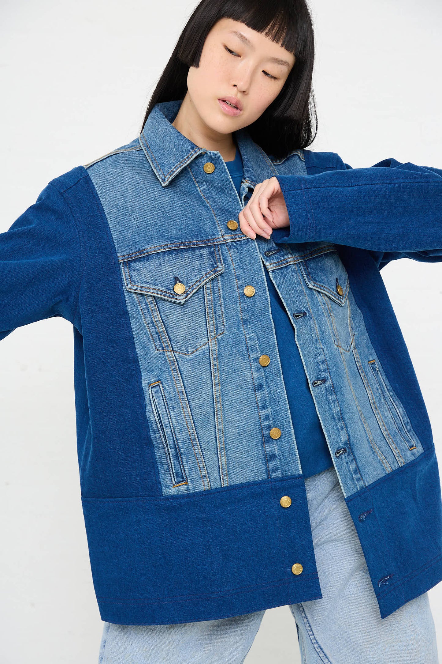
[[(442, 171), (217, 151), (158, 104), (137, 139), (54, 179), (0, 235), (0, 338), (74, 330), (81, 499), (101, 619), (212, 620), (321, 598), (264, 270), (296, 333), (382, 618), (442, 578), (441, 492), (380, 275), (442, 260)], [(238, 214), (276, 175), (290, 228)], [(339, 560), (336, 561), (339, 565)]]

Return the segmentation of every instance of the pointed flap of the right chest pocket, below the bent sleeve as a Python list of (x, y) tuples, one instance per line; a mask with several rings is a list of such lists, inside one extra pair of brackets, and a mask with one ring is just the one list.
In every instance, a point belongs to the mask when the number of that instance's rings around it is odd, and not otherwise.
[(345, 304), (349, 276), (337, 251), (302, 260), (300, 268), (309, 288), (321, 291), (340, 305)]

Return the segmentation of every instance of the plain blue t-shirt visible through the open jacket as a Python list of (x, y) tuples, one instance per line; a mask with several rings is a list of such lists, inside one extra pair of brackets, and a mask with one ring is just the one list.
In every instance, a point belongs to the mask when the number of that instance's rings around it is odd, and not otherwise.
[[(226, 161), (225, 165), (229, 169), (233, 184), (239, 193), (243, 179), (243, 160), (239, 149), (237, 149), (235, 159)], [(270, 279), (268, 270), (264, 270), (264, 272), (302, 472), (305, 477), (310, 477), (331, 467), (333, 461), (317, 416), (315, 402), (311, 396), (300, 351), (295, 341), (295, 331), (282, 299)]]

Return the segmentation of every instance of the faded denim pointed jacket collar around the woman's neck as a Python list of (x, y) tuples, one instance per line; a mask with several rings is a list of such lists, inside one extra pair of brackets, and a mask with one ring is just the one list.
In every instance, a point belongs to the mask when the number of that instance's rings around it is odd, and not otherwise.
[[(192, 143), (172, 125), (182, 100), (156, 104), (150, 112), (139, 136), (140, 145), (156, 177), (166, 187), (177, 173), (197, 155), (219, 155)], [(263, 179), (277, 175), (277, 171), (266, 153), (252, 141), (245, 129), (234, 133), (244, 165), (245, 181), (256, 186)]]

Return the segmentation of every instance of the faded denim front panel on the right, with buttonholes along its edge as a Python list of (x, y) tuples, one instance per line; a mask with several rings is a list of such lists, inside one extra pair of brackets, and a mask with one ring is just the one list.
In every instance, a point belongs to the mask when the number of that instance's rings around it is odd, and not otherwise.
[(344, 495), (349, 495), (423, 448), (388, 381), (381, 386), (371, 369), (376, 361), (382, 372), (335, 247), (290, 246), (280, 244), (278, 253), (263, 258), (286, 309), (305, 312), (299, 319), (292, 315), (296, 341)]

